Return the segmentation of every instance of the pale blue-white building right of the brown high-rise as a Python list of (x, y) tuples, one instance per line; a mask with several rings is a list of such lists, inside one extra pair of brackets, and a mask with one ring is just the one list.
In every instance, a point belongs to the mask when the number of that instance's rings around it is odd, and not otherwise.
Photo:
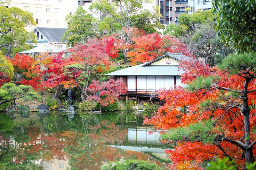
[(189, 14), (197, 11), (198, 9), (202, 11), (211, 10), (212, 0), (188, 0), (188, 7), (191, 8), (188, 12)]

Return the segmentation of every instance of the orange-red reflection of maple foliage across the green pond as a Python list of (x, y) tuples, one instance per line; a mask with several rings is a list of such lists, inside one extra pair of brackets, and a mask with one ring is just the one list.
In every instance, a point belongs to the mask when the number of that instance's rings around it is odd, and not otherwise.
[[(89, 141), (87, 135), (77, 131), (66, 130), (62, 133), (47, 134), (43, 131), (40, 132), (35, 126), (30, 126), (27, 129), (30, 140), (21, 144), (23, 150), (17, 152), (12, 160), (16, 163), (22, 163), (28, 158), (28, 155), (36, 154), (38, 158), (42, 158), (46, 162), (52, 159), (69, 159), (68, 164), (75, 169), (94, 170), (101, 166), (102, 161), (114, 161), (124, 156), (126, 159), (149, 160), (161, 165), (159, 161), (150, 158), (147, 154), (124, 151), (105, 145), (106, 143), (122, 143), (128, 134), (127, 129), (120, 130), (113, 122), (108, 120), (103, 120), (99, 125), (88, 126), (87, 128), (92, 131), (88, 134)], [(0, 145), (3, 146), (4, 138), (0, 137)], [(8, 141), (8, 144), (10, 143), (10, 139), (4, 140), (5, 143), (6, 141)], [(67, 152), (68, 149), (70, 152)], [(77, 150), (81, 152), (77, 154)]]

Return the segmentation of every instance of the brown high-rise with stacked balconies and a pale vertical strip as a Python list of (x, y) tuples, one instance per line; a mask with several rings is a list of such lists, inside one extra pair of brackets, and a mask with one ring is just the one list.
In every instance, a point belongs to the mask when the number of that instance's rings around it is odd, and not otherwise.
[(178, 17), (181, 13), (186, 13), (185, 8), (188, 7), (188, 0), (158, 0), (157, 5), (160, 8), (161, 24), (178, 23)]

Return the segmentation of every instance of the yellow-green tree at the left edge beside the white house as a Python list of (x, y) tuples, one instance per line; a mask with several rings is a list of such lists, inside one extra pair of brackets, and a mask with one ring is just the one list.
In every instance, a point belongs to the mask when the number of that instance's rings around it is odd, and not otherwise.
[(20, 8), (0, 6), (0, 48), (4, 55), (10, 56), (29, 49), (27, 41), (36, 43), (36, 36), (25, 30), (26, 26), (36, 25), (33, 14)]

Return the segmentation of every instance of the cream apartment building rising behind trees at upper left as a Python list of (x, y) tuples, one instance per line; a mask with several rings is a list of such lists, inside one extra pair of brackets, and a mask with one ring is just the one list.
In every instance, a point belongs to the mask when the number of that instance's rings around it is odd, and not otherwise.
[(78, 4), (74, 0), (12, 0), (8, 7), (13, 6), (32, 12), (37, 27), (67, 28), (66, 15), (76, 12)]

